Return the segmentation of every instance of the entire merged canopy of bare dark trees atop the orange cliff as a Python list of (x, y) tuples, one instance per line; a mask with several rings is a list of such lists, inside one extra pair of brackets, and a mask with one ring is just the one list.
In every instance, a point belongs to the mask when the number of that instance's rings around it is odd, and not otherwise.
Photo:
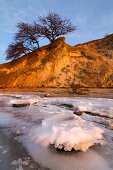
[(14, 42), (6, 50), (6, 59), (16, 59), (39, 48), (39, 39), (47, 38), (51, 43), (61, 35), (74, 32), (77, 27), (70, 19), (62, 19), (57, 13), (49, 13), (46, 17), (39, 16), (32, 24), (17, 24)]

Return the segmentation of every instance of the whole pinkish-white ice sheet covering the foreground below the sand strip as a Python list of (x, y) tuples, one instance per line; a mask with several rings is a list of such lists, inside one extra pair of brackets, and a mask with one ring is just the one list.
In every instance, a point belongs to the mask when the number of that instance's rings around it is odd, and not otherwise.
[[(34, 102), (38, 100), (40, 102), (25, 109), (15, 109), (9, 104), (11, 98), (11, 104), (26, 101), (30, 105), (32, 99)], [(54, 97), (42, 100), (37, 95), (12, 94), (9, 96), (6, 94), (5, 97), (0, 96), (0, 100), (6, 103), (5, 107), (0, 107), (0, 126), (8, 133), (13, 132), (15, 139), (22, 142), (32, 158), (42, 167), (54, 170), (113, 169), (113, 164), (111, 164), (113, 162), (111, 138), (113, 131), (107, 129), (104, 124), (110, 123), (112, 119), (108, 120), (88, 114), (77, 116), (73, 114), (72, 110), (65, 107), (67, 104), (67, 106), (72, 105), (74, 109), (78, 108), (79, 111), (113, 116), (113, 99)], [(104, 143), (103, 133), (106, 140), (105, 147), (99, 147), (99, 152), (98, 147), (90, 149), (89, 147), (95, 143)], [(61, 153), (48, 147), (50, 144), (66, 151), (89, 149), (87, 152)], [(1, 152), (5, 150), (2, 148), (2, 144), (0, 150)], [(12, 164), (17, 164), (17, 161)], [(17, 164), (19, 168), (22, 168), (21, 165)], [(110, 166), (111, 168), (109, 168)]]

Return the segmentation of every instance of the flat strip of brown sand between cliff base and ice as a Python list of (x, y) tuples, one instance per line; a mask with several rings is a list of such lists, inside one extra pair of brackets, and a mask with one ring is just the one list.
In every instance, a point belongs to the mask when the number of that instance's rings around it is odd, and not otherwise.
[(26, 95), (39, 95), (50, 94), (51, 97), (98, 97), (113, 99), (113, 88), (78, 88), (74, 91), (70, 88), (13, 88), (13, 89), (0, 89), (3, 94), (26, 94)]

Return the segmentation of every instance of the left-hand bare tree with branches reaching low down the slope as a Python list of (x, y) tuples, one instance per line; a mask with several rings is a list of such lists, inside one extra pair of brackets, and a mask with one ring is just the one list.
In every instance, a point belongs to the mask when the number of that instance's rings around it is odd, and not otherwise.
[(14, 36), (14, 42), (6, 50), (6, 59), (16, 59), (39, 48), (40, 26), (32, 26), (28, 23), (18, 23), (18, 32)]

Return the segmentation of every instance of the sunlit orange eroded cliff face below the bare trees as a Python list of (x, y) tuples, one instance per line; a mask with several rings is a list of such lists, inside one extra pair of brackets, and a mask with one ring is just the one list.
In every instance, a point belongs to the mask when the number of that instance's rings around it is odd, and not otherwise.
[(0, 65), (0, 87), (113, 87), (113, 34), (77, 46), (59, 38)]

